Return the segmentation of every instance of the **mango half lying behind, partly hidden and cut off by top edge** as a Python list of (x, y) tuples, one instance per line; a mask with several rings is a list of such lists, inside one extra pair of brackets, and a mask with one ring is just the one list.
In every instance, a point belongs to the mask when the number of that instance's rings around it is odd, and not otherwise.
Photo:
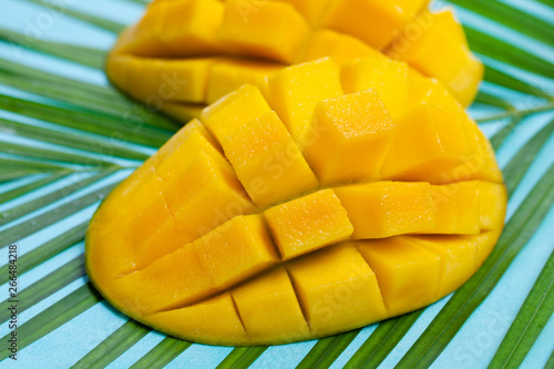
[(157, 0), (122, 33), (106, 70), (115, 85), (183, 123), (243, 84), (325, 57), (366, 59), (345, 71), (345, 92), (379, 86), (383, 99), (406, 95), (397, 84), (422, 73), (470, 105), (483, 65), (453, 9), (432, 13), (428, 2)]

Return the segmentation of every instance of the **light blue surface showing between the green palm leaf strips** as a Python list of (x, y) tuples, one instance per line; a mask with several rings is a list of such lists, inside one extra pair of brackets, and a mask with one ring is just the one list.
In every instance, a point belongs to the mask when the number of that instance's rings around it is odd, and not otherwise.
[[(521, 8), (522, 11), (532, 12), (546, 20), (552, 21), (554, 19), (554, 12), (540, 3), (526, 0), (511, 0), (506, 2)], [(88, 12), (101, 14), (103, 17), (123, 21), (125, 23), (132, 23), (137, 20), (143, 11), (140, 6), (132, 2), (126, 2), (124, 0), (73, 0), (66, 1), (66, 3), (71, 3), (70, 7), (72, 8), (86, 10)], [(437, 7), (440, 6), (441, 3), (438, 2)], [(514, 44), (533, 51), (534, 53), (542, 55), (546, 60), (554, 60), (554, 51), (545, 48), (543, 44), (537, 43), (534, 40), (530, 40), (529, 38), (520, 34), (514, 34), (512, 31), (503, 27), (492, 24), (486, 20), (480, 17), (472, 16), (468, 12), (460, 11), (459, 14), (462, 21), (468, 22), (469, 24), (476, 24), (481, 29), (486, 27), (488, 31), (495, 35), (499, 35)], [(39, 30), (39, 35), (44, 40), (62, 41), (100, 49), (109, 49), (110, 45), (114, 42), (113, 34), (109, 32), (95, 29), (69, 17), (59, 17), (51, 11), (44, 10), (44, 8), (40, 6), (34, 6), (20, 0), (2, 0), (0, 2), (0, 27), (20, 30), (23, 32), (37, 32), (39, 27), (37, 24), (42, 24), (42, 30)], [(60, 75), (66, 75), (73, 79), (80, 79), (96, 84), (107, 83), (104, 74), (101, 71), (81, 66), (71, 62), (57, 60), (54, 58), (45, 57), (32, 51), (16, 49), (8, 43), (0, 42), (0, 54), (2, 55), (2, 58), (17, 61), (18, 63), (40, 68)], [(499, 65), (511, 73), (514, 73), (532, 83), (535, 83), (536, 85), (540, 85), (543, 90), (551, 92), (554, 91), (553, 81), (537, 79), (531, 73), (514, 70), (512, 68), (506, 68), (502, 64)], [(534, 103), (533, 101), (530, 101), (527, 96), (510, 92), (501, 88), (488, 85), (486, 83), (483, 85), (483, 90), (500, 93), (501, 95), (513, 102), (516, 106), (529, 106), (530, 104), (532, 105)], [(20, 93), (2, 85), (0, 85), (0, 92), (13, 95)], [(494, 112), (490, 109), (483, 109), (483, 106), (474, 106), (471, 111), (474, 116), (484, 116)], [(0, 116), (4, 115), (8, 116), (9, 113), (0, 112)], [(534, 133), (541, 130), (542, 126), (544, 126), (553, 119), (554, 114), (547, 113), (526, 119), (522, 124), (520, 124), (497, 152), (497, 158), (501, 166), (506, 165), (514, 153), (516, 153), (517, 150)], [(44, 124), (40, 121), (28, 121), (37, 125)], [(488, 135), (491, 135), (500, 130), (505, 123), (506, 122), (496, 122), (484, 124), (482, 125), (482, 129)], [(1, 142), (25, 143), (27, 139), (14, 137), (6, 133), (0, 133), (0, 144)], [(43, 146), (49, 147), (49, 144), (43, 144)], [(147, 153), (152, 153), (152, 151), (148, 151), (147, 148), (143, 150)], [(553, 153), (554, 136), (550, 139), (548, 143), (545, 145), (545, 147), (543, 147), (540, 155), (533, 162), (532, 166), (529, 168), (529, 172), (525, 175), (524, 181), (512, 197), (509, 204), (509, 217), (517, 208), (517, 206), (529, 194), (530, 189), (538, 181), (542, 174), (554, 163)], [(131, 165), (132, 163), (122, 161), (121, 164)], [(125, 173), (119, 173), (106, 181), (98, 183), (94, 186), (86, 187), (85, 189), (80, 191), (72, 196), (69, 196), (68, 198), (54, 203), (51, 207), (60, 206), (61, 204), (71, 201), (78, 195), (92, 192), (103, 184), (114, 182), (119, 178), (122, 178), (123, 176), (125, 176)], [(10, 184), (0, 184), (0, 192), (22, 185), (25, 183), (25, 181), (28, 182), (29, 180), (23, 180)], [(60, 186), (61, 184), (54, 183), (10, 203), (0, 204), (0, 213), (12, 207), (16, 204), (38, 197)], [(33, 234), (30, 237), (22, 239), (20, 243), (18, 243), (20, 247), (20, 254), (22, 255), (24, 253), (28, 253), (29, 250), (32, 250), (44, 240), (52, 239), (57, 235), (60, 235), (64, 230), (70, 229), (72, 226), (81, 223), (83, 219), (89, 218), (96, 206), (98, 203), (93, 206), (88, 207), (86, 209), (83, 209), (82, 212), (68, 217), (63, 222), (59, 222), (49, 228), (45, 228), (37, 234)], [(31, 216), (34, 216), (37, 214), (41, 214), (51, 207), (34, 212), (29, 216), (19, 219), (18, 222), (23, 222), (24, 219), (30, 218)], [(13, 224), (9, 224), (8, 226), (12, 225)], [(7, 226), (0, 227), (0, 230), (4, 228), (7, 228)], [(551, 209), (548, 216), (544, 219), (538, 232), (520, 253), (520, 255), (517, 255), (516, 259), (510, 266), (509, 270), (502, 277), (501, 281), (494, 288), (492, 294), (471, 316), (471, 318), (459, 331), (449, 347), (433, 363), (432, 368), (486, 367), (486, 363), (492, 359), (492, 356), (496, 351), (496, 348), (499, 347), (505, 332), (510, 328), (511, 322), (521, 308), (523, 300), (532, 288), (538, 273), (546, 263), (546, 258), (554, 249), (554, 235), (552, 230), (553, 228), (554, 211)], [(55, 270), (68, 260), (82, 254), (83, 247), (84, 246), (82, 243), (72, 246), (71, 248), (64, 250), (49, 262), (41, 264), (34, 269), (25, 273), (23, 276), (21, 276), (21, 286), (24, 288), (34, 280), (38, 280), (52, 270)], [(6, 263), (7, 259), (4, 255), (2, 255), (0, 257), (0, 264), (4, 265)], [(62, 297), (66, 296), (78, 287), (85, 284), (86, 280), (86, 277), (82, 277), (71, 285), (66, 286), (65, 288), (61, 289), (60, 291), (55, 293), (54, 295), (50, 296), (45, 300), (41, 301), (40, 304), (28, 309), (27, 311), (21, 314), (21, 321), (24, 322), (31, 317), (35, 316), (44, 308), (51, 306), (53, 303), (60, 300)], [(4, 298), (7, 298), (7, 291), (8, 288), (6, 287), (6, 285), (0, 286), (0, 299), (3, 300)], [(433, 317), (439, 312), (440, 308), (442, 308), (442, 306), (447, 303), (448, 298), (449, 297), (438, 301), (424, 311), (424, 314), (418, 319), (416, 325), (410, 329), (408, 335), (406, 335), (398, 347), (384, 360), (384, 362), (381, 365), (381, 368), (392, 368), (400, 360), (400, 358), (411, 347), (416, 339), (427, 328)], [(80, 358), (82, 358), (86, 352), (93, 349), (98, 344), (100, 344), (125, 321), (125, 316), (113, 310), (106, 303), (99, 303), (94, 307), (81, 314), (79, 317), (74, 318), (50, 335), (43, 337), (33, 345), (20, 351), (17, 365), (11, 361), (4, 360), (0, 362), (0, 367), (66, 368), (76, 362)], [(332, 368), (342, 367), (342, 365), (345, 365), (349, 360), (349, 358), (369, 337), (373, 329), (375, 326), (365, 328), (361, 334), (358, 335), (358, 337), (350, 344), (347, 350), (345, 350), (343, 353), (338, 358)], [(6, 335), (7, 332), (9, 332), (7, 324), (0, 325), (0, 336)], [(112, 362), (109, 368), (127, 368), (130, 365), (140, 359), (145, 352), (157, 345), (164, 337), (164, 335), (156, 331), (150, 332), (124, 355)], [(260, 356), (260, 358), (253, 365), (253, 367), (294, 368), (301, 361), (306, 353), (309, 352), (314, 345), (315, 341), (309, 341), (296, 345), (271, 347)], [(184, 351), (178, 358), (171, 362), (168, 365), (168, 368), (215, 368), (230, 352), (230, 348), (193, 345), (189, 349)], [(527, 355), (523, 363), (523, 368), (543, 367), (553, 350), (554, 319), (551, 318), (548, 325), (543, 330), (532, 351), (530, 352), (530, 355)]]

